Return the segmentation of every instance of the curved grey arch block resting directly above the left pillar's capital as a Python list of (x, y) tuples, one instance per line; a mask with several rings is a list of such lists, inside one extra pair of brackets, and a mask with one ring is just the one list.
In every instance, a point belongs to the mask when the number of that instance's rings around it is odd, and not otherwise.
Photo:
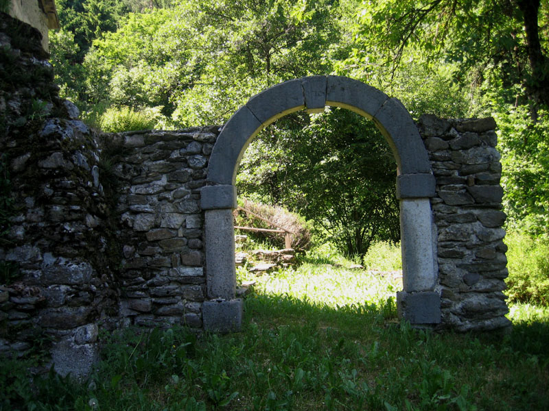
[(235, 112), (213, 146), (208, 166), (208, 181), (234, 184), (244, 150), (261, 128), (261, 123), (248, 107), (244, 106)]

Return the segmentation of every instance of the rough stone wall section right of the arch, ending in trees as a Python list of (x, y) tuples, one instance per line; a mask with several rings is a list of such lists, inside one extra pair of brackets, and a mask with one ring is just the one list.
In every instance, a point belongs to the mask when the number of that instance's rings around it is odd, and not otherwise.
[(436, 179), (430, 201), (438, 231), (441, 326), (506, 327), (506, 216), (495, 121), (425, 115), (418, 127)]

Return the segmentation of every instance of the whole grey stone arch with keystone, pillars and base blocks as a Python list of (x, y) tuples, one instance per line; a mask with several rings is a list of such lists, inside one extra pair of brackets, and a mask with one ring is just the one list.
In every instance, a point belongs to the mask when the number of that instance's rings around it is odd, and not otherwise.
[(399, 315), (412, 324), (439, 323), (436, 246), (429, 197), (435, 181), (427, 150), (404, 105), (384, 92), (348, 77), (313, 76), (278, 84), (252, 97), (224, 125), (209, 159), (200, 205), (205, 210), (207, 297), (205, 329), (240, 327), (242, 301), (235, 299), (235, 178), (246, 147), (273, 121), (296, 112), (323, 112), (326, 105), (347, 108), (373, 120), (388, 141), (398, 166), (404, 291)]

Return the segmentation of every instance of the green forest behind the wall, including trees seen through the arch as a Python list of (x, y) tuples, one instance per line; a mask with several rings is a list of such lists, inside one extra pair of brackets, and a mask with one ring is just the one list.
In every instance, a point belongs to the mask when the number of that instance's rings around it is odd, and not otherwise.
[[(222, 125), (287, 79), (346, 75), (414, 119), (493, 116), (509, 241), (531, 251), (517, 299), (549, 296), (549, 2), (57, 0), (62, 97), (107, 132)], [(395, 161), (347, 110), (295, 113), (246, 150), (239, 193), (312, 221), (347, 255), (399, 240)], [(515, 287), (519, 284), (519, 287)], [(509, 284), (508, 284), (509, 285)]]

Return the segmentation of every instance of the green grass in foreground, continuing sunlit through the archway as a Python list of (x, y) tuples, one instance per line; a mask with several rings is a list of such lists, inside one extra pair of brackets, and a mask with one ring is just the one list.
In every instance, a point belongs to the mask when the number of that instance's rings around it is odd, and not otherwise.
[(257, 279), (242, 332), (104, 335), (85, 384), (52, 374), (32, 388), (23, 362), (2, 364), (12, 405), (0, 409), (549, 409), (546, 308), (513, 306), (506, 336), (414, 330), (397, 320), (398, 285), (350, 264), (327, 252), (295, 271), (240, 271)]

